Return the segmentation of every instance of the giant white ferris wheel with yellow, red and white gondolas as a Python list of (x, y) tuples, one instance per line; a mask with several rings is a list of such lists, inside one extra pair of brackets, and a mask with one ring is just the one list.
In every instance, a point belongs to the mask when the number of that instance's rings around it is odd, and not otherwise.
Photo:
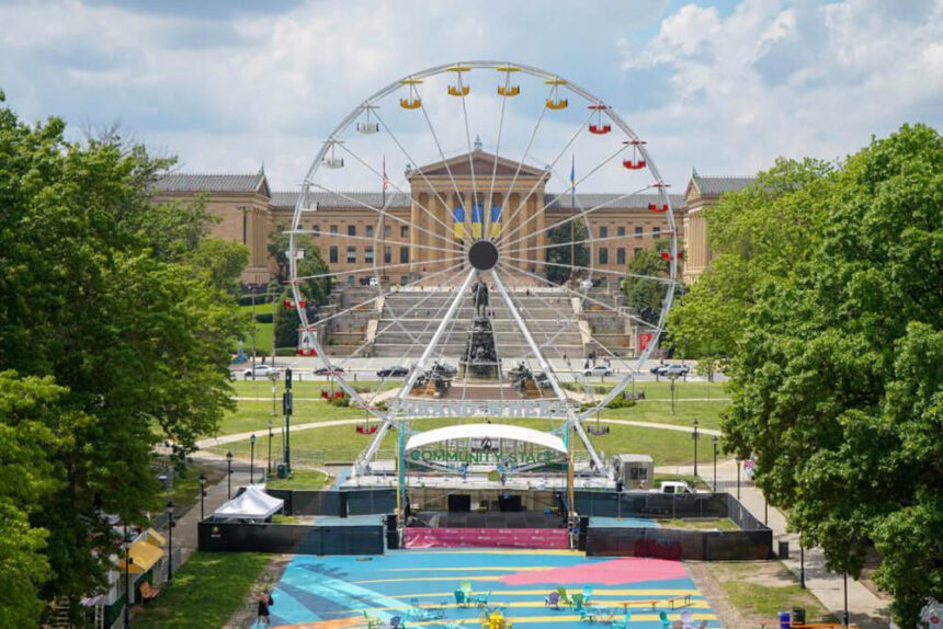
[[(572, 427), (602, 468), (582, 420), (657, 347), (677, 233), (648, 145), (605, 100), (507, 61), (414, 72), (353, 107), (303, 181), (298, 353), (378, 420), (365, 460), (390, 426), (487, 415)], [(306, 271), (310, 247), (328, 271)], [(317, 313), (314, 281), (333, 286)]]

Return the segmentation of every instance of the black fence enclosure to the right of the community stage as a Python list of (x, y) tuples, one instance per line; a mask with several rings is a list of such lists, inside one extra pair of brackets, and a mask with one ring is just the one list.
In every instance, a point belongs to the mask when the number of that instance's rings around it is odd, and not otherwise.
[(758, 560), (773, 554), (773, 531), (729, 493), (578, 492), (573, 500), (582, 517), (727, 517), (740, 528), (686, 530), (582, 524), (580, 546), (587, 554), (701, 561)]

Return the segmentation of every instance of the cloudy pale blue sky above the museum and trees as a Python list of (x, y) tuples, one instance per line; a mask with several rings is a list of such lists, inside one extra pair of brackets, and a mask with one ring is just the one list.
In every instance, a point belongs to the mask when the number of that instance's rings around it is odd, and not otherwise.
[[(60, 116), (76, 138), (120, 122), (182, 171), (264, 164), (275, 190), (297, 190), (322, 141), (371, 94), (474, 59), (586, 88), (645, 139), (675, 192), (692, 168), (752, 175), (780, 156), (841, 159), (904, 123), (943, 128), (943, 0), (0, 0), (0, 89), (24, 119)], [(581, 124), (586, 110), (548, 116), (527, 153), (543, 88), (522, 85), (499, 118), (501, 100), (485, 102), (499, 77), (477, 72), (468, 128), (445, 83), (422, 87), (442, 150), (394, 100), (378, 112), (390, 130), (404, 125), (410, 148), (385, 134), (385, 148), (365, 137), (348, 146), (363, 147), (372, 170), (385, 159), (397, 171), (480, 135), (488, 150), (550, 163), (566, 122)], [(550, 187), (566, 186), (577, 160), (578, 178), (590, 172), (609, 155), (604, 141), (581, 137), (563, 151)], [(371, 187), (374, 175), (343, 185)], [(582, 190), (622, 190), (620, 176), (600, 170)]]

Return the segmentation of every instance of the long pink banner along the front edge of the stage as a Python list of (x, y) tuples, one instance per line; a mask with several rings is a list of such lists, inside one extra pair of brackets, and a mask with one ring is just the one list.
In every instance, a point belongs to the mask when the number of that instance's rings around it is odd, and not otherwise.
[(569, 548), (566, 528), (407, 528), (406, 548)]

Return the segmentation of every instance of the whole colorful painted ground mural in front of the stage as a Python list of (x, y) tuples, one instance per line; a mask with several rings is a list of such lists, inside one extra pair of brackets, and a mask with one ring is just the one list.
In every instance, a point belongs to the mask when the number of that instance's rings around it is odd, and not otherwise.
[(292, 629), (722, 626), (680, 562), (569, 550), (296, 557), (273, 595), (273, 627)]

